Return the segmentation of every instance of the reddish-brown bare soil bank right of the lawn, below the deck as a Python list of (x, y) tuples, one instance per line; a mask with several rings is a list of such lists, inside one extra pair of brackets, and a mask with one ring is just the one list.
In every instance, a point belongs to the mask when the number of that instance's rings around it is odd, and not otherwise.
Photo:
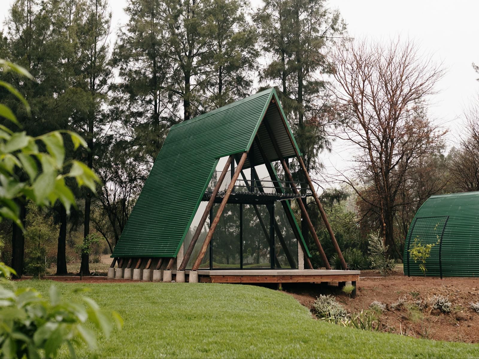
[[(479, 302), (479, 278), (407, 277), (401, 273), (380, 277), (373, 271), (361, 272), (355, 299), (341, 292), (335, 283), (289, 285), (285, 292), (295, 297), (309, 309), (319, 294), (333, 294), (336, 300), (354, 314), (368, 310), (378, 301), (386, 304), (386, 310), (376, 313), (380, 330), (417, 338), (479, 343), (479, 314), (470, 308), (470, 303)], [(417, 309), (413, 303), (428, 301), (434, 295), (448, 297), (452, 303), (450, 313), (432, 308)], [(399, 299), (404, 304), (394, 309), (391, 306)]]

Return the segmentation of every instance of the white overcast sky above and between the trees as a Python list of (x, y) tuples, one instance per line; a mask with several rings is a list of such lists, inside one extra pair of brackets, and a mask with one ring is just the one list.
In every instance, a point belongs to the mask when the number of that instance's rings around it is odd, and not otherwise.
[[(12, 0), (0, 0), (0, 19), (4, 19)], [(110, 0), (113, 27), (125, 23), (126, 0)], [(261, 0), (252, 0), (256, 8)], [(438, 83), (430, 116), (450, 130), (448, 144), (453, 146), (462, 133), (461, 113), (479, 93), (479, 77), (472, 62), (479, 63), (479, 1), (474, 0), (330, 0), (339, 9), (353, 37), (388, 40), (398, 35), (417, 41), (427, 53), (447, 68)], [(331, 154), (323, 154), (326, 173), (345, 168), (351, 152), (336, 143)]]

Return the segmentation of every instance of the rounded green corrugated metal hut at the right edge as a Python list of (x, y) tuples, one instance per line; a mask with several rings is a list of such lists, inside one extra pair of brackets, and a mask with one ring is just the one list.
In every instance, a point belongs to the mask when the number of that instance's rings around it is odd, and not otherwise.
[[(442, 242), (441, 242), (442, 237)], [(479, 276), (479, 192), (430, 197), (416, 213), (404, 249), (404, 274), (422, 275), (408, 248), (414, 240), (434, 245), (426, 275)], [(409, 261), (409, 266), (408, 266)]]

